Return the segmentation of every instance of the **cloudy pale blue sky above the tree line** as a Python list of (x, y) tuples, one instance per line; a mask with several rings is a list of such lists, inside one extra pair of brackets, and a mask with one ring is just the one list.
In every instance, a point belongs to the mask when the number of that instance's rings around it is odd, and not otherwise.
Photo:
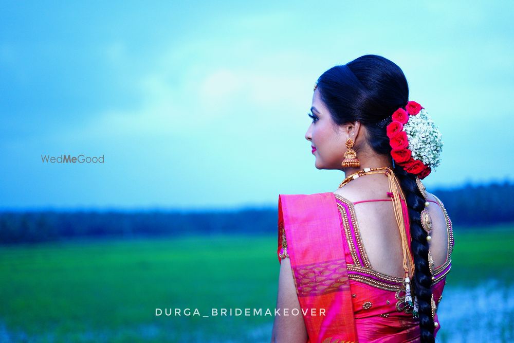
[[(415, 4), (413, 4), (415, 3)], [(0, 207), (277, 206), (333, 191), (305, 132), (373, 53), (442, 133), (428, 190), (514, 179), (512, 2), (0, 2)], [(103, 156), (103, 164), (42, 155)]]

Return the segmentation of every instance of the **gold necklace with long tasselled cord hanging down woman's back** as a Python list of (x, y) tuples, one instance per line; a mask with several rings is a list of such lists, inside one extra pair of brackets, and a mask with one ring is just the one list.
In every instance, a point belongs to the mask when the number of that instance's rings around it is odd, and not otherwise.
[[(398, 224), (398, 228), (400, 230), (400, 238), (401, 238), (401, 246), (403, 251), (403, 270), (405, 270), (405, 303), (408, 306), (413, 307), (411, 288), (410, 288), (410, 278), (414, 275), (414, 259), (412, 258), (410, 249), (409, 249), (409, 241), (407, 239), (407, 229), (405, 218), (402, 212), (402, 200), (405, 202), (405, 195), (403, 194), (398, 179), (393, 173), (391, 167), (380, 167), (380, 168), (364, 168), (359, 170), (350, 176), (344, 178), (343, 182), (339, 184), (339, 188), (346, 185), (348, 182), (355, 180), (356, 178), (364, 175), (370, 174), (384, 174), (388, 177), (389, 180), (389, 190), (392, 194), (392, 203), (394, 209), (394, 215), (396, 218), (396, 222)], [(405, 205), (407, 206), (407, 205)]]

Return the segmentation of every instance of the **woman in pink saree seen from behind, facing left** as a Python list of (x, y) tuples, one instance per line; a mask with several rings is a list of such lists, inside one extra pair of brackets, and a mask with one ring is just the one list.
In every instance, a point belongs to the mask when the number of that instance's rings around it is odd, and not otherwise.
[[(279, 195), (272, 342), (433, 342), (453, 233), (421, 183), (440, 133), (390, 60), (366, 55), (316, 82), (305, 138), (333, 192)], [(287, 309), (287, 310), (285, 310)]]

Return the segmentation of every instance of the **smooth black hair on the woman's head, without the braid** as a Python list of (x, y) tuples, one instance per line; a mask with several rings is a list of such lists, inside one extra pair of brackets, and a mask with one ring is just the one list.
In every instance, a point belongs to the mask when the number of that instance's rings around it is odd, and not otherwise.
[(386, 125), (378, 124), (409, 99), (400, 67), (381, 56), (361, 56), (325, 71), (317, 88), (336, 124), (359, 121), (368, 132), (370, 147), (378, 154), (389, 155)]

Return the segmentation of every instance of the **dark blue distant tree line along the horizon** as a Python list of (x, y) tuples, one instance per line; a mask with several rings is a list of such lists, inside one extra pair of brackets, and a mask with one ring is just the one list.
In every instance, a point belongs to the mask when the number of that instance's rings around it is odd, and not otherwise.
[[(514, 184), (508, 181), (429, 191), (444, 203), (457, 229), (514, 223)], [(276, 234), (277, 220), (277, 206), (223, 211), (4, 210), (0, 212), (0, 244), (73, 238)]]

